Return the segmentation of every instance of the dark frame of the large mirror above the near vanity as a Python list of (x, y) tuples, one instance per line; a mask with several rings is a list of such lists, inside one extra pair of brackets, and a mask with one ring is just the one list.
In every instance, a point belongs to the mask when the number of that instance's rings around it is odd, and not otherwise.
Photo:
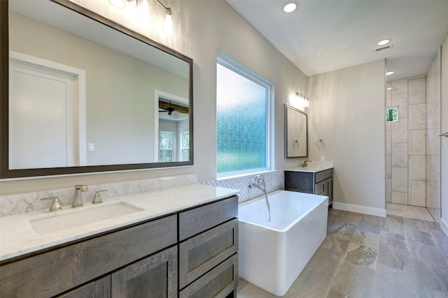
[(91, 166), (79, 166), (79, 167), (48, 167), (48, 168), (36, 168), (36, 169), (20, 169), (9, 170), (8, 167), (8, 60), (9, 60), (9, 44), (8, 44), (8, 13), (9, 13), (9, 1), (0, 1), (0, 179), (10, 179), (19, 177), (41, 177), (51, 175), (62, 174), (80, 174), (80, 173), (93, 173), (93, 172), (113, 172), (123, 170), (142, 170), (153, 169), (158, 167), (179, 167), (186, 165), (193, 165), (193, 59), (176, 52), (165, 45), (160, 45), (154, 40), (146, 38), (126, 27), (121, 26), (115, 22), (112, 22), (101, 15), (97, 15), (78, 4), (69, 0), (50, 0), (58, 3), (67, 9), (71, 9), (89, 17), (92, 20), (96, 20), (112, 29), (116, 29), (128, 36), (141, 40), (150, 47), (157, 47), (159, 50), (172, 54), (174, 57), (182, 59), (188, 62), (189, 70), (189, 130), (190, 130), (190, 158), (189, 161), (177, 161), (169, 163), (132, 163), (122, 165), (91, 165)]

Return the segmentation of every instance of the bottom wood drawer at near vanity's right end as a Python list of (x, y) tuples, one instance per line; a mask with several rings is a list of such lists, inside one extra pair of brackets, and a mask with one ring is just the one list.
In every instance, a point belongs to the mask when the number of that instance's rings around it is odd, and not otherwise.
[(237, 289), (237, 283), (238, 254), (235, 254), (181, 290), (179, 298), (225, 298)]

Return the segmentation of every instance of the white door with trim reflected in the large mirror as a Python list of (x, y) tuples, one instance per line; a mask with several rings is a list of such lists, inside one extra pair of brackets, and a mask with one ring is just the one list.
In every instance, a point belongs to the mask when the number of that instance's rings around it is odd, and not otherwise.
[(9, 167), (79, 164), (76, 77), (10, 60)]

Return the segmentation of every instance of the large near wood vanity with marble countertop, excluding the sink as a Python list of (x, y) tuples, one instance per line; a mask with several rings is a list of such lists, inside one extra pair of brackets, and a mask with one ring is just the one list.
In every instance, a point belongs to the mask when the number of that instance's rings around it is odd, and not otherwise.
[(139, 211), (55, 232), (31, 227), (48, 212), (0, 218), (0, 296), (236, 297), (237, 193), (194, 184), (109, 199)]

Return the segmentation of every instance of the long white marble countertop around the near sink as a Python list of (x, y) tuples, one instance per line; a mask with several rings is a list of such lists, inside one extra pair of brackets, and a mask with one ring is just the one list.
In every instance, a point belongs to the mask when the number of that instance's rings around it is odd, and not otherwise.
[(71, 208), (71, 206), (63, 206), (62, 211), (34, 211), (4, 216), (0, 218), (0, 261), (33, 253), (69, 241), (82, 239), (108, 230), (122, 228), (126, 225), (132, 225), (133, 223), (139, 223), (151, 218), (173, 214), (183, 209), (195, 207), (207, 202), (214, 202), (236, 195), (237, 193), (239, 191), (235, 189), (191, 184), (160, 191), (111, 198), (104, 200), (103, 204), (126, 202), (144, 210), (103, 221), (78, 225), (73, 228), (51, 232), (50, 234), (38, 234), (34, 232), (29, 221), (36, 217), (45, 216), (45, 214), (48, 216), (57, 216), (58, 214), (71, 213), (82, 208), (94, 208), (99, 205), (84, 202), (84, 207), (76, 209)]

